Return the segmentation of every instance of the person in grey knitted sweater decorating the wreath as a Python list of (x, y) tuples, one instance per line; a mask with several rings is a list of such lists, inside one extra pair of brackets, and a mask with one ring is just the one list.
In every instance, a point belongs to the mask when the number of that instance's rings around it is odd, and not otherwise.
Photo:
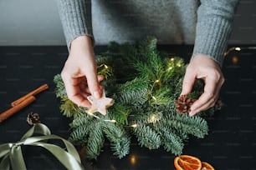
[[(87, 97), (93, 95), (93, 97), (99, 98), (102, 94), (102, 87), (99, 83), (102, 77), (97, 76), (93, 49), (91, 2), (90, 0), (57, 0), (57, 2), (69, 47), (69, 57), (61, 73), (65, 88), (71, 101), (82, 107), (90, 107)], [(181, 94), (189, 94), (192, 91), (195, 79), (204, 78), (204, 92), (197, 102), (192, 104), (189, 115), (193, 116), (215, 104), (224, 82), (220, 67), (223, 64), (223, 53), (232, 32), (233, 16), (238, 0), (94, 2), (103, 5), (100, 6), (101, 10), (95, 11), (93, 14), (97, 15), (101, 11), (106, 12), (109, 9), (110, 15), (105, 14), (101, 17), (116, 17), (116, 19), (108, 20), (110, 24), (103, 23), (107, 26), (111, 26), (112, 23), (115, 32), (111, 27), (105, 27), (107, 33), (103, 35), (99, 33), (99, 37), (110, 37), (109, 39), (113, 41), (119, 40), (119, 36), (116, 35), (121, 35), (128, 41), (132, 41), (136, 40), (135, 37), (137, 37), (132, 36), (132, 33), (136, 35), (153, 33), (153, 36), (156, 36), (163, 43), (193, 43), (192, 58), (187, 66)], [(129, 9), (132, 9), (135, 14), (130, 23), (125, 22), (124, 19), (124, 13), (127, 14)], [(123, 13), (123, 15), (117, 13)], [(163, 18), (169, 20), (161, 20), (159, 13), (164, 16)], [(139, 19), (136, 21), (136, 18)], [(154, 24), (154, 22), (158, 22), (158, 24)], [(117, 23), (120, 23), (120, 25), (117, 25)], [(156, 26), (158, 32), (152, 32), (151, 29), (148, 29), (153, 26)], [(158, 26), (161, 27), (157, 28)], [(129, 31), (127, 31), (127, 28), (129, 28)], [(166, 29), (162, 32), (162, 28)], [(122, 29), (124, 31), (121, 31)], [(95, 36), (96, 38), (97, 36)], [(80, 82), (86, 82), (86, 85)]]

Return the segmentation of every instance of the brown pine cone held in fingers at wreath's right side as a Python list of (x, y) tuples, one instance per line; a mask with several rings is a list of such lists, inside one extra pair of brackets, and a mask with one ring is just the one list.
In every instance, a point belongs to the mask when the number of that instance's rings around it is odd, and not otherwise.
[(187, 98), (187, 95), (180, 96), (174, 103), (176, 105), (176, 111), (179, 113), (187, 113), (190, 111), (190, 107), (197, 99)]

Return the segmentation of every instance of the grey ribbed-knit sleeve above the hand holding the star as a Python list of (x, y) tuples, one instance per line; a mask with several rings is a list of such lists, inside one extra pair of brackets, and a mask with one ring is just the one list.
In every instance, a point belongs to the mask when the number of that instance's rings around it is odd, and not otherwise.
[(93, 37), (90, 0), (56, 0), (67, 46), (75, 37)]

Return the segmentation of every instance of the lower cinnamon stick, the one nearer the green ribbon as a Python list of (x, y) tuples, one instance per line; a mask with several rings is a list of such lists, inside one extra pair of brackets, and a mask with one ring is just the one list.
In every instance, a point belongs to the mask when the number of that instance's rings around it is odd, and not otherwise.
[(35, 101), (35, 99), (36, 99), (35, 97), (29, 96), (26, 99), (24, 99), (23, 102), (20, 102), (19, 104), (15, 105), (14, 107), (11, 107), (7, 111), (2, 112), (0, 114), (0, 122), (3, 122), (8, 117), (12, 116), (14, 113), (20, 111), (21, 109), (23, 109), (23, 107), (28, 106), (28, 104), (30, 104), (31, 102)]

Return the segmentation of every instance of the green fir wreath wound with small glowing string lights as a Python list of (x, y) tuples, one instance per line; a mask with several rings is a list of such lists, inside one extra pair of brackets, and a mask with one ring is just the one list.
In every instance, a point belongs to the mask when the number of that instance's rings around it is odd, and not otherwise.
[[(214, 108), (189, 117), (178, 113), (175, 101), (180, 96), (186, 65), (180, 57), (168, 57), (156, 48), (156, 38), (147, 37), (136, 44), (110, 42), (108, 51), (96, 57), (98, 73), (105, 76), (102, 85), (107, 97), (115, 99), (107, 114), (88, 114), (87, 108), (69, 101), (60, 75), (54, 77), (60, 111), (70, 122), (69, 141), (85, 144), (86, 157), (96, 159), (105, 140), (113, 154), (123, 158), (129, 153), (131, 137), (141, 147), (163, 147), (175, 155), (182, 154), (190, 136), (204, 138), (206, 116)], [(190, 98), (202, 94), (203, 82), (196, 81)]]

